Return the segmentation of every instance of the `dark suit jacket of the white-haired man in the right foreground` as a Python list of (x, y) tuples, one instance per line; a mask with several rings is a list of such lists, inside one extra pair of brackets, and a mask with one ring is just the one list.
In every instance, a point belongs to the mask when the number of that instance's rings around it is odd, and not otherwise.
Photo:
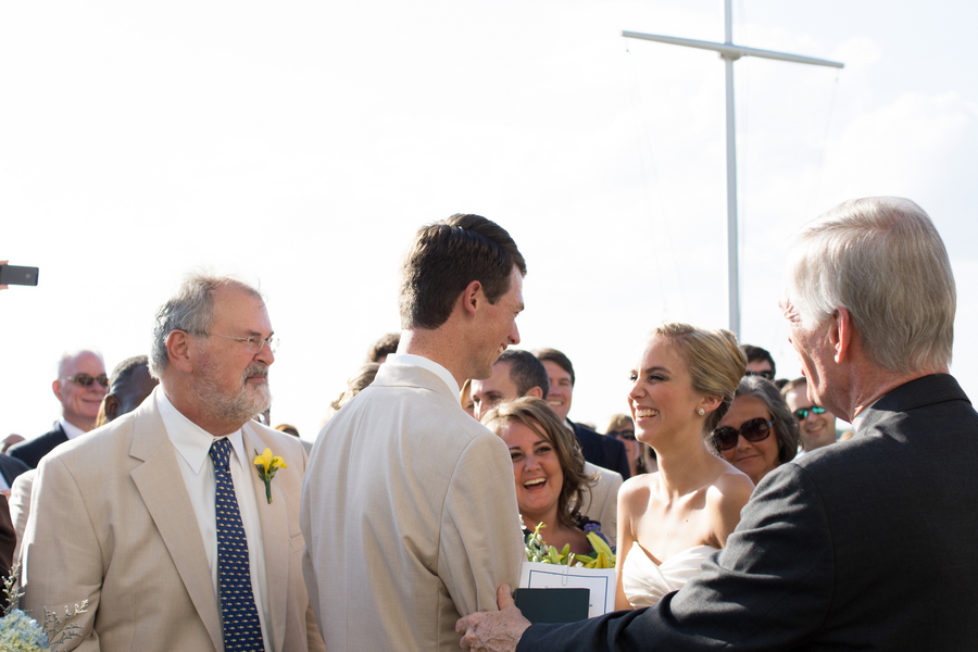
[(974, 650), (975, 505), (978, 414), (951, 376), (918, 378), (768, 474), (681, 590), (518, 650)]

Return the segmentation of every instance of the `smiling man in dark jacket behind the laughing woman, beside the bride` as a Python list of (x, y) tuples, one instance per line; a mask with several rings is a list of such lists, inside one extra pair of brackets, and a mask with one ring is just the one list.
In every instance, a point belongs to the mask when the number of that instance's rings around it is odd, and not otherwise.
[(620, 441), (602, 437), (593, 430), (581, 424), (575, 424), (567, 418), (570, 412), (570, 401), (574, 398), (574, 384), (577, 378), (574, 375), (574, 365), (570, 359), (556, 349), (540, 349), (534, 354), (543, 363), (547, 368), (547, 376), (550, 378), (550, 393), (547, 394), (547, 402), (553, 408), (553, 411), (563, 418), (567, 426), (574, 430), (577, 441), (580, 442), (580, 450), (584, 452), (585, 460), (591, 464), (610, 468), (622, 475), (624, 479), (628, 479), (628, 454)]

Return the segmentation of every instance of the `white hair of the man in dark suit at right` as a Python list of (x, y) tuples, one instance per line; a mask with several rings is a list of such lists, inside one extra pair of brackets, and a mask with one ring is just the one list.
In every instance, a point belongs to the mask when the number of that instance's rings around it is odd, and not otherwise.
[(839, 204), (802, 228), (788, 265), (788, 299), (806, 327), (844, 308), (874, 363), (900, 373), (951, 364), (957, 306), (951, 261), (913, 201)]

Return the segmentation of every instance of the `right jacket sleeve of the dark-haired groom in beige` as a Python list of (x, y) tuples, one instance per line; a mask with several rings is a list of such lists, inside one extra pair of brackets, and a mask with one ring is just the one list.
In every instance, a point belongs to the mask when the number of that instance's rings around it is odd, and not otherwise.
[(446, 497), (438, 575), (463, 616), (497, 611), (500, 585), (516, 588), (525, 559), (506, 444), (492, 434), (462, 453)]

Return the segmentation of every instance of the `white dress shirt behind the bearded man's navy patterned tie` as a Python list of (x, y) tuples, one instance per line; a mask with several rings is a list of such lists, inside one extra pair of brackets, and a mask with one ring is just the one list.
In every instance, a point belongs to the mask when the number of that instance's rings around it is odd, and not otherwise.
[[(211, 568), (211, 581), (217, 599), (217, 613), (221, 611), (221, 593), (217, 589), (217, 524), (215, 497), (217, 480), (214, 477), (214, 463), (211, 461), (211, 444), (215, 437), (180, 414), (174, 408), (162, 386), (153, 390), (156, 408), (163, 418), (163, 426), (170, 441), (176, 450), (177, 465), (184, 476), (184, 485), (193, 505), (204, 551), (208, 554), (208, 566)], [(220, 438), (218, 438), (220, 439)], [(244, 450), (244, 440), (238, 429), (227, 436), (231, 444), (230, 474), (235, 482), (235, 494), (241, 512), (241, 525), (248, 539), (248, 566), (251, 572), (251, 590), (254, 593), (254, 606), (259, 622), (262, 624), (262, 640), (265, 652), (272, 652), (268, 640), (268, 623), (271, 615), (268, 604), (268, 585), (265, 580), (265, 550), (262, 543), (262, 525), (259, 519), (254, 497), (254, 455)], [(262, 451), (259, 451), (261, 453)]]

